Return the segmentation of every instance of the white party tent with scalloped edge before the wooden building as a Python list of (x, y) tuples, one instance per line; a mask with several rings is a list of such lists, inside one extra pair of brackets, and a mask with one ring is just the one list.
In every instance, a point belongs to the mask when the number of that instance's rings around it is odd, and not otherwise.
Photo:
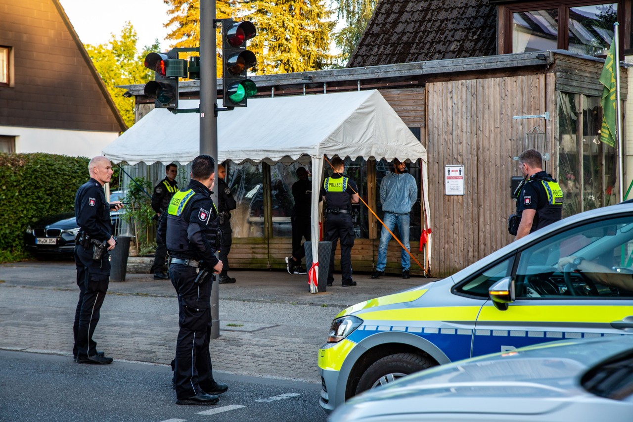
[[(198, 100), (179, 101), (196, 108)], [(103, 150), (114, 162), (186, 164), (199, 155), (199, 115), (154, 109)], [(218, 162), (312, 163), (312, 238), (318, 239), (323, 156), (365, 160), (422, 158), (423, 229), (430, 226), (427, 151), (379, 91), (251, 99), (220, 112)], [(313, 260), (318, 262), (316, 241)], [(429, 245), (430, 246), (430, 245)], [(430, 259), (430, 247), (427, 248)]]

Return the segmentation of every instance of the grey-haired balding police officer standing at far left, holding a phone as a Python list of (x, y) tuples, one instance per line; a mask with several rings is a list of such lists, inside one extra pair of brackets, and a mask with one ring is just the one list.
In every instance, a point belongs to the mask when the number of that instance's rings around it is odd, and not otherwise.
[[(99, 310), (108, 291), (110, 278), (110, 254), (116, 245), (112, 236), (110, 205), (106, 201), (103, 185), (110, 182), (112, 166), (105, 157), (94, 157), (88, 164), (90, 180), (77, 189), (75, 217), (79, 226), (75, 245), (77, 286), (79, 300), (75, 309), (73, 356), (81, 364), (110, 364), (111, 357), (97, 352), (97, 342), (92, 334), (99, 322)], [(120, 201), (113, 202), (113, 209), (120, 210)]]

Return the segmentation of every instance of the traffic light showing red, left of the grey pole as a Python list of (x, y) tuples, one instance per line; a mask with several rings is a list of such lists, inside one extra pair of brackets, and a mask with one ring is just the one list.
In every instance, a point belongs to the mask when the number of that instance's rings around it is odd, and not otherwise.
[(178, 108), (178, 80), (187, 76), (187, 61), (178, 58), (177, 51), (149, 53), (145, 67), (156, 74), (155, 80), (145, 84), (144, 93), (154, 98), (156, 108)]

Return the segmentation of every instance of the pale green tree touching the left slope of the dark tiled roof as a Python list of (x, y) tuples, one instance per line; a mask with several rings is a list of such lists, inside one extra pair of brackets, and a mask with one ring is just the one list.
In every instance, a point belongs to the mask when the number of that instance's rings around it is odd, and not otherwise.
[(346, 27), (334, 34), (334, 42), (341, 49), (341, 59), (346, 62), (358, 46), (378, 0), (334, 0), (334, 3), (338, 6), (337, 18), (346, 23)]

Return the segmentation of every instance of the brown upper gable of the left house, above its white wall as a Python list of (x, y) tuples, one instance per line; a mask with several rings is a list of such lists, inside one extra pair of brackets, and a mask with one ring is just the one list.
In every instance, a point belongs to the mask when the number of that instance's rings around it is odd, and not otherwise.
[(0, 125), (121, 132), (123, 119), (59, 0), (0, 0), (0, 45), (11, 86), (0, 86)]

